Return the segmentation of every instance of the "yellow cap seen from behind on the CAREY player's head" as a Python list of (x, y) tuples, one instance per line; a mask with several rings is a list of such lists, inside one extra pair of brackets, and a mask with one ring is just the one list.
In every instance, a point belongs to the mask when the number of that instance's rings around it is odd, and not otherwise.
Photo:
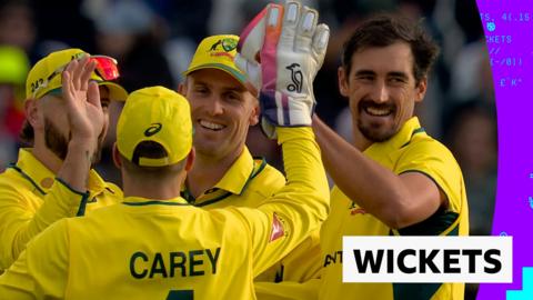
[[(163, 147), (163, 158), (135, 157), (143, 141)], [(187, 99), (163, 87), (132, 92), (117, 123), (117, 148), (129, 161), (141, 167), (164, 167), (180, 162), (192, 148), (191, 109)]]

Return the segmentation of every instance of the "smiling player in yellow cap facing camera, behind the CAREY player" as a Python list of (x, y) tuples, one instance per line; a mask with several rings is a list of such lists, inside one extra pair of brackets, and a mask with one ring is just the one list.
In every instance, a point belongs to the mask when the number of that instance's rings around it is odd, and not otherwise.
[[(318, 18), (315, 11), (310, 13)], [(182, 197), (203, 209), (257, 208), (285, 184), (280, 171), (264, 159), (254, 159), (245, 146), (249, 127), (259, 122), (260, 108), (257, 92), (233, 62), (238, 42), (239, 37), (231, 34), (203, 39), (179, 87), (191, 104), (197, 152)], [(319, 230), (255, 280), (304, 281), (318, 277), (321, 266), (309, 259), (310, 251), (320, 257)]]

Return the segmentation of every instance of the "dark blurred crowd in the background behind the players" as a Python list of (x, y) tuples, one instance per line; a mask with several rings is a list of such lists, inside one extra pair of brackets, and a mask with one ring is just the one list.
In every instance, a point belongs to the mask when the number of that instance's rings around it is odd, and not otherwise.
[[(51, 51), (81, 48), (119, 61), (128, 90), (175, 89), (207, 36), (239, 34), (265, 0), (0, 0), (0, 171), (17, 159), (23, 122), (26, 74)], [(490, 234), (496, 186), (496, 114), (493, 80), (475, 0), (306, 0), (331, 28), (324, 66), (314, 82), (316, 113), (348, 140), (351, 117), (338, 91), (343, 41), (365, 16), (395, 11), (420, 19), (441, 46), (425, 100), (416, 108), (426, 131), (455, 154), (466, 183), (471, 234)], [(120, 113), (111, 107), (111, 120)], [(113, 121), (111, 121), (113, 124)], [(111, 126), (113, 128), (113, 126)], [(114, 130), (98, 166), (120, 183), (110, 160)], [(280, 167), (274, 142), (259, 128), (249, 148)]]

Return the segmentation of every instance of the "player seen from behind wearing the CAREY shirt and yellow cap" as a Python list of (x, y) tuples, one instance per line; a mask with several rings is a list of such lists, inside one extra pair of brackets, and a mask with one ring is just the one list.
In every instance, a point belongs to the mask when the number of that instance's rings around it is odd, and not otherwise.
[[(162, 87), (132, 92), (119, 118), (113, 159), (121, 168), (123, 202), (84, 218), (56, 222), (33, 239), (0, 277), (0, 298), (32, 299), (254, 299), (252, 279), (318, 228), (329, 211), (329, 191), (311, 126), (312, 79), (320, 68), (329, 31), (313, 24), (301, 36), (282, 26), (279, 7), (269, 12), (268, 44), (283, 40), (274, 56), (280, 71), (272, 92), (291, 103), (298, 127), (274, 122), (288, 183), (258, 209), (203, 210), (180, 197), (195, 157), (188, 101)], [(315, 42), (312, 42), (312, 41)], [(263, 52), (263, 51), (262, 51)], [(300, 91), (286, 89), (284, 68), (300, 62), (306, 76)], [(278, 77), (278, 78), (275, 78)], [(79, 99), (71, 99), (80, 101)], [(107, 229), (102, 231), (102, 228)]]

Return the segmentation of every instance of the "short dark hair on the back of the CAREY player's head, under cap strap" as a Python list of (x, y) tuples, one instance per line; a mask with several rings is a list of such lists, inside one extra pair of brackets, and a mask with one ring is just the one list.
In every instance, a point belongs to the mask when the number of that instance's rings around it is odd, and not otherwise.
[(139, 166), (140, 158), (160, 159), (165, 158), (167, 156), (167, 150), (159, 142), (142, 141), (133, 150), (133, 157), (131, 161), (122, 157), (122, 164), (129, 173), (148, 178), (164, 178), (169, 176), (174, 176), (175, 173), (183, 170), (187, 159), (183, 159), (178, 163), (164, 167)]

